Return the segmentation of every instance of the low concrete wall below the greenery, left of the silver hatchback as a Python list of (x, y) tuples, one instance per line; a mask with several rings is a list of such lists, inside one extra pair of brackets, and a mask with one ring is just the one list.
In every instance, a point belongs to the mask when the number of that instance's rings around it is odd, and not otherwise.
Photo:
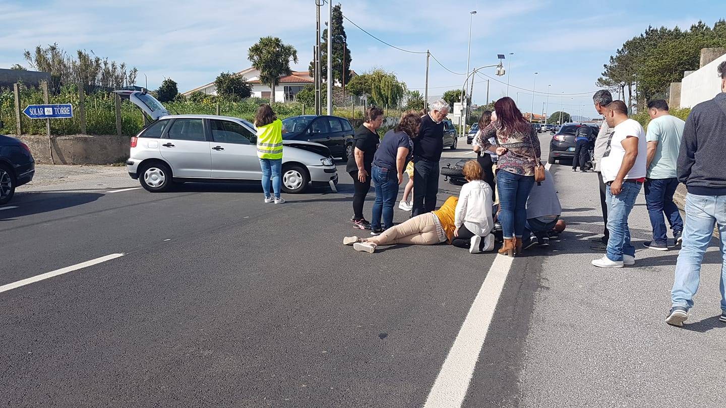
[[(48, 136), (15, 136), (30, 147), (36, 163), (51, 163)], [(129, 137), (116, 135), (89, 136), (73, 134), (53, 136), (55, 164), (113, 164), (129, 158)]]

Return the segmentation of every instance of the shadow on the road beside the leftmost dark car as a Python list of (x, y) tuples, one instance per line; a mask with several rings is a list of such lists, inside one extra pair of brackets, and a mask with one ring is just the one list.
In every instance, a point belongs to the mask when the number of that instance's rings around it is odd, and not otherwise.
[(47, 213), (63, 208), (76, 207), (94, 202), (103, 197), (99, 192), (22, 192), (17, 193), (8, 206), (16, 206), (0, 211), (0, 221), (12, 221), (17, 217)]

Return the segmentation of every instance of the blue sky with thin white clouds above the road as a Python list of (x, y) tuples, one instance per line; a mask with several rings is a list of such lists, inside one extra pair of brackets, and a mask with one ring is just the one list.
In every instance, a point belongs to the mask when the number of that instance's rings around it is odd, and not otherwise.
[[(431, 52), (450, 70), (466, 70), (469, 12), (473, 17), (471, 67), (511, 60), (510, 84), (552, 94), (595, 90), (603, 64), (628, 38), (648, 25), (688, 28), (726, 17), (722, 1), (640, 0), (339, 0), (343, 14), (370, 33), (404, 49)], [(337, 4), (335, 2), (334, 4)], [(222, 71), (249, 67), (247, 49), (259, 37), (279, 36), (298, 49), (307, 70), (315, 41), (314, 0), (1, 0), (0, 68), (23, 61), (23, 51), (57, 42), (68, 52), (93, 50), (139, 69), (139, 84), (155, 89), (173, 78), (179, 91), (213, 81)], [(322, 10), (327, 20), (327, 7)], [(345, 23), (357, 72), (392, 70), (410, 89), (425, 83), (425, 55), (380, 44)], [(510, 57), (509, 53), (514, 55)], [(505, 62), (509, 68), (510, 61)], [(482, 72), (494, 76), (494, 68)], [(460, 88), (464, 76), (433, 60), (429, 94)], [(495, 77), (497, 78), (497, 77)], [(499, 78), (506, 83), (507, 77)], [(548, 86), (551, 85), (551, 86)], [(504, 96), (506, 85), (491, 82), (490, 99)], [(517, 94), (517, 92), (521, 92)], [(531, 93), (510, 87), (522, 110), (531, 110)], [(486, 82), (478, 77), (474, 101), (484, 103)], [(590, 95), (534, 97), (534, 112), (565, 110), (595, 115)]]

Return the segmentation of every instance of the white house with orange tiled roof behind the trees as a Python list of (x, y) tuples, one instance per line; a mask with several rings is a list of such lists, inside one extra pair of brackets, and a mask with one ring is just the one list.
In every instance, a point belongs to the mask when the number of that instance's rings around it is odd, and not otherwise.
[[(241, 70), (238, 73), (234, 73), (233, 75), (242, 76), (248, 81), (248, 83), (250, 83), (252, 86), (253, 97), (270, 99), (272, 88), (264, 83), (261, 83), (260, 71), (255, 68), (248, 68), (246, 70)], [(295, 95), (298, 94), (304, 86), (312, 83), (315, 83), (315, 81), (307, 71), (293, 71), (292, 75), (280, 77), (280, 82), (277, 86), (275, 86), (274, 99), (276, 102), (291, 102), (295, 99)], [(214, 83), (211, 82), (192, 89), (191, 91), (186, 91), (183, 95), (187, 97), (195, 91), (200, 91), (204, 94), (210, 95), (217, 94), (217, 88), (214, 86)]]

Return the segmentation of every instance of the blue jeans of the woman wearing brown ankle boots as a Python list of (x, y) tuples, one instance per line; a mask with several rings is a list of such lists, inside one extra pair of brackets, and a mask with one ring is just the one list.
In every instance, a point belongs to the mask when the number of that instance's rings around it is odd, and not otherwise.
[[(527, 198), (534, 186), (534, 176), (521, 176), (501, 170), (497, 172), (499, 187), (499, 222), (505, 238), (521, 238), (527, 221)], [(416, 187), (414, 187), (415, 189)]]

